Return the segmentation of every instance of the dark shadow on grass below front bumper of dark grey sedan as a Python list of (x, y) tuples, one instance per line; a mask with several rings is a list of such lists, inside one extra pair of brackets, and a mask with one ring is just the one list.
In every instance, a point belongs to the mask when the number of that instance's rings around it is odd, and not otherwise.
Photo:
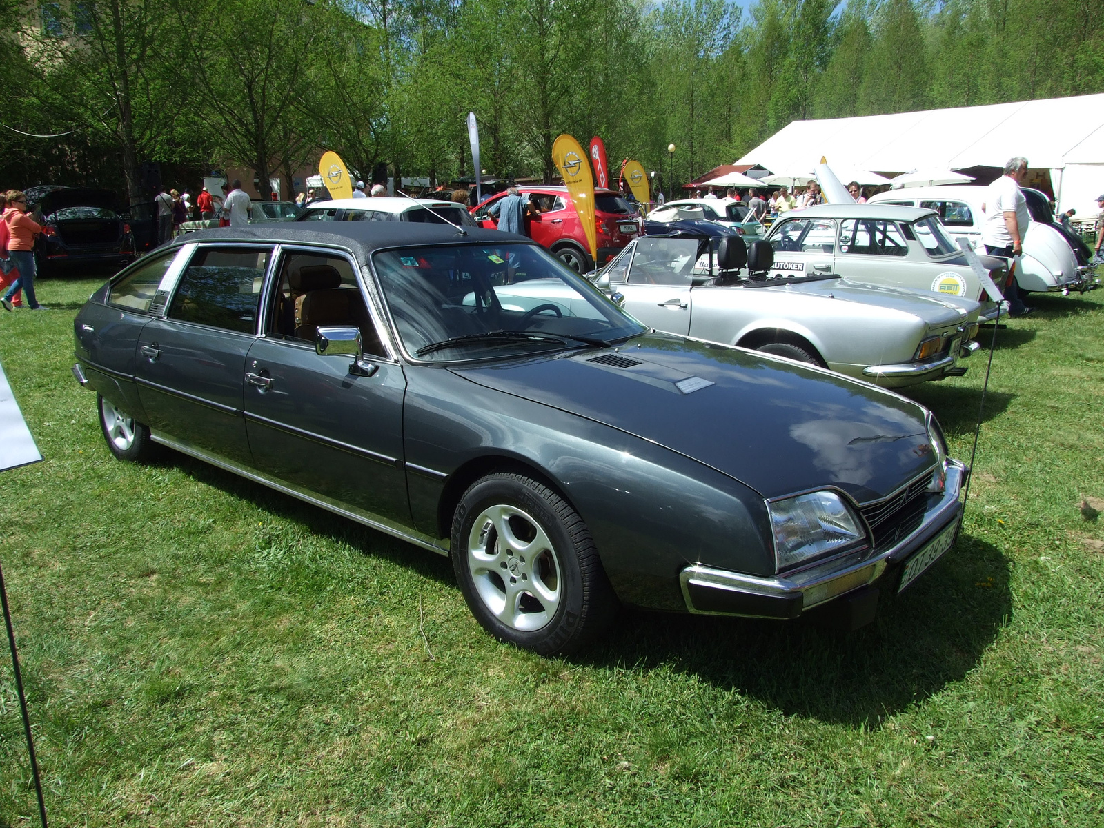
[(666, 666), (787, 715), (878, 728), (963, 680), (1011, 615), (1004, 554), (963, 534), (905, 593), (883, 591), (875, 622), (853, 633), (807, 619), (625, 611), (599, 646), (572, 660), (636, 670)]

